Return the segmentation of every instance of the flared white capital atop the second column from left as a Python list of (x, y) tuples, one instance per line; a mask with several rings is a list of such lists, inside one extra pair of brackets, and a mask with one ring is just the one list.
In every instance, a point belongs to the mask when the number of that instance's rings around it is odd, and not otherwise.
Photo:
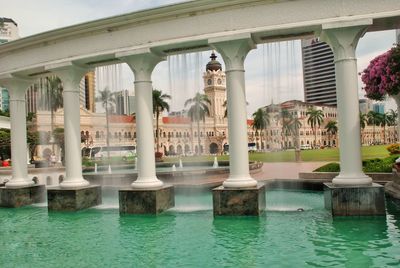
[[(51, 71), (54, 75), (58, 76), (68, 90), (79, 91), (79, 83), (82, 77), (90, 71), (89, 68), (84, 68), (75, 65), (72, 62), (62, 62), (45, 66), (46, 70)], [(69, 85), (69, 86), (66, 86)]]

